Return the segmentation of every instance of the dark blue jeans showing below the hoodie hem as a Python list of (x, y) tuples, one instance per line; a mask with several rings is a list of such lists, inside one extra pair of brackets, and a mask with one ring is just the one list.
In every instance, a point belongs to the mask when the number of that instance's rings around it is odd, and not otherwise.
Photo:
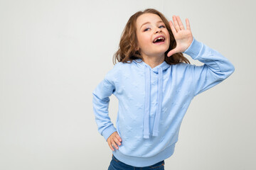
[(114, 155), (112, 155), (112, 161), (110, 162), (110, 166), (107, 170), (150, 170), (150, 169), (164, 170), (164, 161), (161, 161), (151, 166), (145, 166), (140, 168), (140, 167), (124, 164), (120, 162), (116, 157), (114, 157)]

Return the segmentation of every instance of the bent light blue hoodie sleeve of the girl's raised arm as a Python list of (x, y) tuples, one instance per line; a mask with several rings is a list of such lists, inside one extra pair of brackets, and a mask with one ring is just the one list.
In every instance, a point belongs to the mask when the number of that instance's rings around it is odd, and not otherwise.
[(204, 63), (202, 66), (191, 67), (194, 96), (219, 84), (235, 71), (228, 59), (195, 38), (184, 53)]

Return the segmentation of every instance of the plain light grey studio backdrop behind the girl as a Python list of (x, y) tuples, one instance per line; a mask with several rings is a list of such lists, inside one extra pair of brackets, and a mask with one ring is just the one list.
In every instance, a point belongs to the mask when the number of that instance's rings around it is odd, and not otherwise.
[[(129, 17), (145, 8), (188, 18), (193, 36), (235, 65), (193, 99), (166, 169), (256, 169), (252, 0), (1, 0), (0, 169), (107, 169), (112, 152), (97, 132), (92, 91), (113, 67)], [(113, 122), (117, 105), (111, 96)]]

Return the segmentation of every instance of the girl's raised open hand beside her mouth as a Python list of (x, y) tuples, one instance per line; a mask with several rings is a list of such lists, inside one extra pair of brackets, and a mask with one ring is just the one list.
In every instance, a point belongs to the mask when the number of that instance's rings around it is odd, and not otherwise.
[(173, 20), (174, 23), (172, 23), (172, 21), (169, 21), (169, 24), (171, 26), (171, 32), (174, 34), (177, 45), (173, 50), (168, 52), (168, 57), (174, 55), (175, 53), (186, 51), (189, 45), (191, 45), (191, 42), (193, 41), (193, 35), (191, 32), (188, 18), (186, 18), (186, 29), (184, 28), (183, 23), (181, 22), (181, 18), (179, 18), (179, 16), (173, 16)]

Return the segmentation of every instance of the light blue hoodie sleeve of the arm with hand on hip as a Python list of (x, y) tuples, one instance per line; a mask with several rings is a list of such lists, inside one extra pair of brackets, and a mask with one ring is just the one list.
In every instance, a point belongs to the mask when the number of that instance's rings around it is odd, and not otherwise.
[[(111, 71), (110, 71), (111, 72)], [(109, 116), (109, 103), (110, 96), (115, 91), (115, 86), (113, 81), (111, 81), (110, 72), (106, 75), (105, 79), (97, 85), (96, 89), (92, 92), (92, 103), (93, 111), (95, 113), (95, 121), (97, 123), (98, 131), (100, 135), (105, 137), (107, 140), (110, 135), (117, 131), (114, 128), (113, 123)]]

